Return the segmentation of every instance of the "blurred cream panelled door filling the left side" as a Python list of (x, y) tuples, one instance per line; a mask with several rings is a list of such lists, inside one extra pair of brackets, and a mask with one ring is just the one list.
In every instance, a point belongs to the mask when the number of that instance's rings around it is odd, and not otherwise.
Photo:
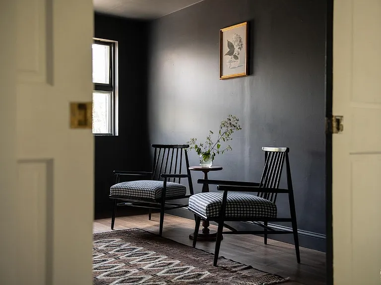
[(92, 284), (92, 0), (0, 1), (0, 284)]

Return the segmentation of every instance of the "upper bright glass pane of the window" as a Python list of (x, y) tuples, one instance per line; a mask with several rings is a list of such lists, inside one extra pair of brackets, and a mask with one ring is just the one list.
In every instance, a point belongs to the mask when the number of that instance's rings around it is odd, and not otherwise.
[(110, 83), (110, 46), (93, 44), (93, 83)]

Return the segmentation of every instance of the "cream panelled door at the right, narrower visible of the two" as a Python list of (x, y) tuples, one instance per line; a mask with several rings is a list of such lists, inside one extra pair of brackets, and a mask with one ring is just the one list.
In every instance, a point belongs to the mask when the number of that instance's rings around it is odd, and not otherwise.
[(334, 0), (333, 275), (381, 283), (381, 0)]

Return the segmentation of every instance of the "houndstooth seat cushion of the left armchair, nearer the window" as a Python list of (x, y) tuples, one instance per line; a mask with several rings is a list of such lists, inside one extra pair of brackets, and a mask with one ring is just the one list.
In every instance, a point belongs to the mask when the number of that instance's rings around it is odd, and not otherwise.
[[(163, 192), (163, 181), (155, 180), (138, 180), (122, 182), (111, 186), (110, 195), (133, 197), (133, 198), (146, 198), (146, 199), (159, 199)], [(183, 196), (187, 193), (187, 188), (184, 185), (167, 182), (166, 197)]]

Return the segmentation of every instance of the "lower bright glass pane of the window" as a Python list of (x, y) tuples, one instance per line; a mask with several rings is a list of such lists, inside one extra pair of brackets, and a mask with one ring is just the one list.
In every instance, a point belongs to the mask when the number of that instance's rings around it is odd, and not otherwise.
[(111, 92), (93, 92), (93, 134), (112, 134)]

